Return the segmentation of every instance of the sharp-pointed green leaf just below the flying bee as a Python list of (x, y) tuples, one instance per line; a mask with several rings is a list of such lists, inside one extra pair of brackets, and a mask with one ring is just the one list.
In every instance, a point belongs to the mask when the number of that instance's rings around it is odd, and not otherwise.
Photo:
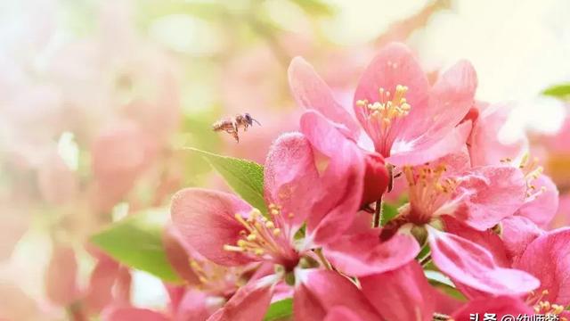
[(262, 212), (267, 212), (264, 200), (264, 168), (255, 161), (240, 160), (237, 158), (217, 155), (212, 152), (188, 148), (192, 152), (199, 152), (232, 187), (235, 193), (251, 206)]

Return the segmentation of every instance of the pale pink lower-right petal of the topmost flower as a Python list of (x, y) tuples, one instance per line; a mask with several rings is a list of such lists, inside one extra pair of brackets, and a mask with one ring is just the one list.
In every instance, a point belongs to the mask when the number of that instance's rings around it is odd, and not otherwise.
[(435, 161), (445, 155), (460, 152), (465, 147), (470, 131), (471, 122), (467, 121), (449, 132), (426, 134), (411, 142), (396, 141), (391, 156), (386, 161), (398, 166), (414, 166)]

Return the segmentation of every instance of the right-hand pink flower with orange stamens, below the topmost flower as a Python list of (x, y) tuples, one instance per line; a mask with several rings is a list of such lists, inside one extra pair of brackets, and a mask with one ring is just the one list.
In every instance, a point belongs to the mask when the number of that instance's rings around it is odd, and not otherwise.
[[(506, 295), (535, 289), (538, 280), (533, 276), (503, 268), (485, 247), (431, 226), (455, 218), (483, 233), (513, 215), (524, 202), (526, 183), (520, 170), (508, 166), (465, 170), (461, 160), (465, 157), (451, 155), (434, 165), (404, 167), (410, 202), (381, 230), (382, 242), (375, 236), (378, 232), (345, 235), (325, 246), (327, 257), (349, 275), (384, 273), (415, 258), (419, 252), (415, 236), (419, 242), (428, 239), (436, 266), (460, 284)], [(452, 167), (447, 168), (445, 162)]]

